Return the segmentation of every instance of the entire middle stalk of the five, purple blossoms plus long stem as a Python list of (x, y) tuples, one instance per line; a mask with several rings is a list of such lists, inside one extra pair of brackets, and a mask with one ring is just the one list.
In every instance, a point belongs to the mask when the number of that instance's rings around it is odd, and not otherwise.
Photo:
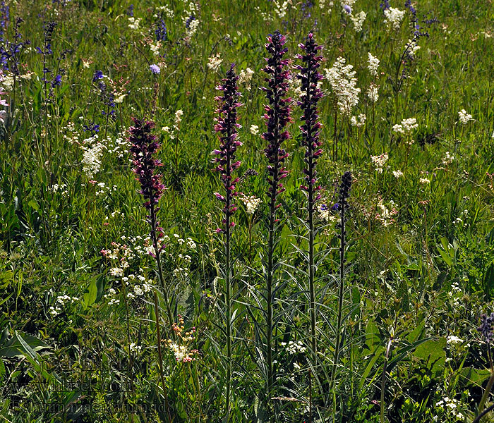
[(288, 49), (284, 47), (287, 41), (284, 35), (278, 31), (274, 35), (267, 37), (265, 44), (269, 57), (266, 59), (267, 65), (263, 69), (267, 73), (267, 87), (263, 87), (267, 102), (265, 104), (264, 118), (266, 120), (267, 130), (263, 133), (264, 140), (267, 141), (267, 147), (264, 153), (267, 157), (267, 183), (269, 189), (267, 195), (270, 198), (269, 204), (269, 222), (268, 222), (268, 245), (267, 245), (267, 275), (266, 275), (266, 361), (267, 361), (267, 389), (272, 388), (275, 381), (273, 374), (272, 363), (272, 333), (273, 324), (273, 276), (275, 274), (275, 224), (278, 219), (276, 216), (277, 209), (280, 204), (277, 202), (277, 197), (285, 189), (283, 188), (282, 179), (288, 175), (287, 169), (284, 167), (284, 160), (288, 157), (288, 153), (282, 148), (282, 142), (288, 140), (290, 135), (285, 129), (287, 124), (291, 122), (290, 118), (290, 103), (291, 98), (283, 98), (288, 91), (289, 71), (286, 66), (288, 59), (283, 59)]

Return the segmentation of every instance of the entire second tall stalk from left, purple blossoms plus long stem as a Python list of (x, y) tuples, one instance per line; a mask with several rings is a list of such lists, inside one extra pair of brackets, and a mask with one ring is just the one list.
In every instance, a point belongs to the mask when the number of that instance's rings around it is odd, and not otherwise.
[(222, 80), (222, 85), (217, 86), (217, 90), (222, 92), (222, 95), (216, 97), (218, 107), (216, 113), (218, 114), (215, 121), (215, 132), (218, 133), (220, 140), (219, 149), (213, 150), (213, 154), (217, 157), (213, 159), (212, 163), (216, 164), (215, 171), (219, 172), (222, 185), (224, 187), (224, 195), (215, 192), (218, 200), (224, 203), (223, 207), (223, 227), (218, 228), (218, 233), (224, 233), (225, 235), (225, 317), (227, 320), (227, 420), (229, 419), (230, 412), (230, 390), (231, 390), (231, 228), (233, 228), (234, 222), (231, 221), (231, 215), (236, 211), (236, 206), (233, 202), (236, 196), (236, 183), (239, 182), (239, 178), (232, 175), (232, 173), (240, 166), (240, 161), (236, 160), (235, 153), (237, 147), (242, 143), (237, 140), (238, 133), (237, 128), (240, 127), (237, 121), (236, 109), (241, 106), (238, 99), (240, 93), (237, 91), (238, 87), (236, 81), (239, 79), (235, 75), (234, 64), (230, 66), (227, 71), (227, 78)]

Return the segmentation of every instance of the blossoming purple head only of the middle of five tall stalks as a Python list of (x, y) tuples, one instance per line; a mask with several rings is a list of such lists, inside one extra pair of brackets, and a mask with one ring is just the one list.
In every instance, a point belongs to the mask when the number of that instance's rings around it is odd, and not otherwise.
[(267, 130), (263, 133), (263, 138), (268, 143), (264, 153), (269, 163), (267, 165), (267, 182), (270, 184), (268, 195), (272, 202), (271, 212), (274, 212), (273, 207), (276, 209), (279, 207), (279, 204), (275, 204), (276, 197), (284, 191), (280, 181), (288, 176), (288, 171), (283, 166), (288, 153), (281, 147), (282, 142), (290, 137), (285, 127), (292, 121), (290, 117), (291, 98), (282, 98), (288, 91), (289, 80), (289, 71), (284, 69), (288, 64), (288, 60), (283, 59), (284, 54), (288, 51), (284, 47), (285, 42), (287, 42), (286, 37), (275, 32), (274, 35), (267, 37), (265, 44), (270, 57), (266, 59), (267, 66), (263, 69), (268, 75), (268, 78), (265, 78), (267, 87), (262, 88), (266, 92), (268, 102), (264, 106)]

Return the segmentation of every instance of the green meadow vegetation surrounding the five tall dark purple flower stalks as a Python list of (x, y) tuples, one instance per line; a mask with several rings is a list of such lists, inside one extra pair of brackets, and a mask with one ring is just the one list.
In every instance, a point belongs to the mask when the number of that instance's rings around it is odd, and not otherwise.
[[(476, 328), (494, 311), (492, 1), (18, 0), (2, 1), (0, 16), (3, 419), (471, 422), (490, 406), (491, 332)], [(294, 74), (309, 32), (324, 47), (324, 153), (314, 350), (294, 77), (268, 362), (259, 88), (276, 30)], [(243, 104), (243, 196), (226, 314), (222, 185), (210, 152), (215, 87), (230, 63)], [(161, 282), (131, 117), (155, 121), (161, 144)], [(345, 171), (342, 253), (335, 204)]]

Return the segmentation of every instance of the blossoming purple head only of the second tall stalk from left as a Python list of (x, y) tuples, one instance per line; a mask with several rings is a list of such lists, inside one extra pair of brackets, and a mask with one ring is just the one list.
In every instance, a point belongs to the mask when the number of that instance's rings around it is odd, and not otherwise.
[(222, 232), (229, 231), (229, 228), (234, 226), (230, 222), (230, 217), (236, 210), (232, 200), (236, 195), (235, 185), (239, 182), (239, 178), (232, 178), (231, 174), (241, 164), (235, 157), (237, 147), (242, 145), (237, 140), (237, 128), (240, 128), (240, 125), (237, 123), (239, 118), (236, 113), (236, 109), (242, 104), (238, 101), (241, 94), (237, 91), (236, 81), (239, 77), (235, 75), (234, 66), (234, 64), (231, 65), (227, 72), (227, 78), (222, 80), (222, 85), (217, 86), (217, 90), (221, 91), (222, 95), (216, 97), (218, 117), (215, 118), (215, 131), (219, 134), (221, 144), (219, 150), (213, 150), (217, 157), (212, 160), (212, 163), (216, 164), (215, 171), (221, 174), (226, 193), (224, 197), (215, 193), (217, 199), (225, 203), (223, 212), (226, 219), (224, 220), (225, 228), (222, 229)]

